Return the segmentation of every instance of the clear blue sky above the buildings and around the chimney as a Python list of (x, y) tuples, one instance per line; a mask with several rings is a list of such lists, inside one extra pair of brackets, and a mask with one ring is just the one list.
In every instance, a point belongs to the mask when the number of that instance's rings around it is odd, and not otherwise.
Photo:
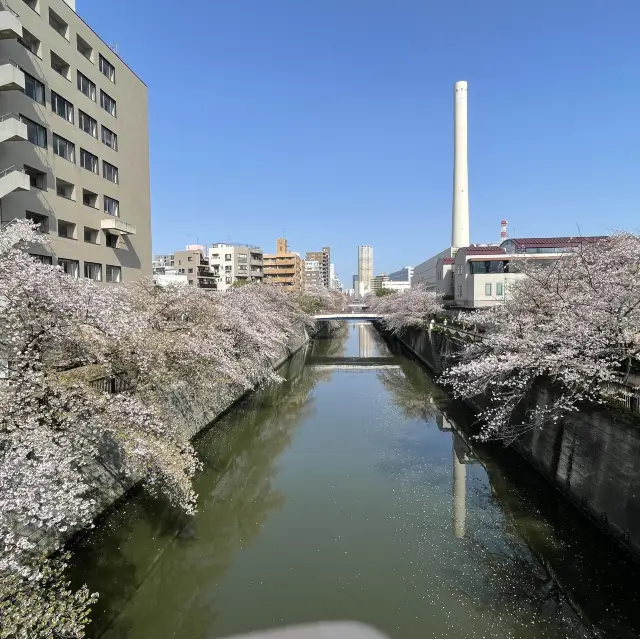
[(149, 86), (154, 253), (446, 248), (456, 80), (472, 242), (640, 230), (640, 0), (77, 2)]

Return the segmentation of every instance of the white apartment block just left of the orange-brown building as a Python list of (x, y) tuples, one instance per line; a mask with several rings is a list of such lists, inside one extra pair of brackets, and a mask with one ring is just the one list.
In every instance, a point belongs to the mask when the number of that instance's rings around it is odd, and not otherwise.
[(262, 283), (264, 280), (264, 255), (259, 246), (212, 244), (209, 263), (217, 288), (221, 291), (226, 291), (235, 283)]

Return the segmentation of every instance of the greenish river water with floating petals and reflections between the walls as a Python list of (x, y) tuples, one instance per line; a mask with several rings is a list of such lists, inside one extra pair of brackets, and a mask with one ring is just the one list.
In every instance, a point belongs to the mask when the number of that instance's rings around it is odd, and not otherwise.
[(471, 417), (392, 348), (345, 322), (197, 440), (196, 516), (139, 491), (79, 540), (90, 636), (638, 636), (638, 568), (515, 455), (470, 445)]

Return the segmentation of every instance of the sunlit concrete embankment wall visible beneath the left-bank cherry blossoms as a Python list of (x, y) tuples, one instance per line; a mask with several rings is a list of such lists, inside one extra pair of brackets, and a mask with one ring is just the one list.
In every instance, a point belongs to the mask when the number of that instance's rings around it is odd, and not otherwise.
[[(287, 360), (302, 349), (309, 341), (309, 333), (301, 326), (292, 336), (289, 343), (283, 346), (279, 353), (272, 358), (274, 369), (280, 368)], [(197, 403), (187, 401), (184, 397), (174, 397), (175, 407), (180, 414), (180, 427), (189, 438), (195, 437), (199, 432), (209, 426), (214, 420), (226, 413), (234, 404), (251, 391), (238, 390), (224, 405), (212, 408), (207, 403), (207, 398), (202, 398)], [(108, 508), (113, 506), (127, 492), (140, 483), (144, 477), (131, 478), (122, 472), (122, 460), (118, 457), (114, 447), (105, 446), (101, 454), (84, 469), (90, 478), (89, 484), (93, 487), (91, 497), (95, 500), (92, 509), (94, 519)], [(53, 538), (45, 534), (41, 529), (25, 528), (21, 533), (31, 541), (36, 542), (38, 548), (45, 552), (53, 552), (60, 544), (71, 539), (78, 530), (70, 530), (64, 535)]]

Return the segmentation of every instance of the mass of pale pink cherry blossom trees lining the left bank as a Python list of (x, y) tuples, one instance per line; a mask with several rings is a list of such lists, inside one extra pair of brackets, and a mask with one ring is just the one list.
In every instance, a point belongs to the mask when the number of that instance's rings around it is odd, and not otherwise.
[[(97, 285), (31, 258), (46, 235), (28, 222), (0, 230), (0, 637), (81, 637), (95, 595), (64, 580), (60, 539), (90, 525), (93, 461), (105, 450), (187, 513), (198, 460), (181, 421), (196, 402), (215, 415), (238, 391), (278, 380), (272, 359), (311, 319), (271, 286), (226, 293)], [(82, 374), (124, 375), (125, 392)], [(182, 401), (182, 404), (181, 404)]]

